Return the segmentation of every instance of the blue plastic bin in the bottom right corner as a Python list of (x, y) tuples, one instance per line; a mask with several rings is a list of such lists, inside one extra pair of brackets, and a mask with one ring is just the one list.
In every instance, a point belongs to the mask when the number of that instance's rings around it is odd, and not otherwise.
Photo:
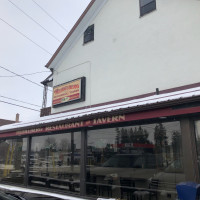
[(176, 185), (180, 200), (196, 200), (200, 194), (200, 184), (194, 182), (182, 182)]

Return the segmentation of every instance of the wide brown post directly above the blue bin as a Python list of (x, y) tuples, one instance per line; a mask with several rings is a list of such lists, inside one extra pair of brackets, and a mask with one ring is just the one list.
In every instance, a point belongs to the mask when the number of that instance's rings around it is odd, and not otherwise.
[(194, 122), (189, 118), (182, 118), (180, 124), (185, 178), (186, 181), (199, 182)]

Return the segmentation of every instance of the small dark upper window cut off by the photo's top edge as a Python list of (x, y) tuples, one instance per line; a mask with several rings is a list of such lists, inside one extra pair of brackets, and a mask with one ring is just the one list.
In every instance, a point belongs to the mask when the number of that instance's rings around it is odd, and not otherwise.
[(140, 0), (140, 16), (156, 10), (156, 0)]

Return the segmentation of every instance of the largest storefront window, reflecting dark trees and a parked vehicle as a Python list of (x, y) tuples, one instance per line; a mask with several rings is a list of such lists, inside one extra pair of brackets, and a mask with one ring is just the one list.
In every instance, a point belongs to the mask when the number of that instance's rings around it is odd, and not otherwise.
[(175, 199), (185, 180), (179, 122), (88, 132), (87, 194)]

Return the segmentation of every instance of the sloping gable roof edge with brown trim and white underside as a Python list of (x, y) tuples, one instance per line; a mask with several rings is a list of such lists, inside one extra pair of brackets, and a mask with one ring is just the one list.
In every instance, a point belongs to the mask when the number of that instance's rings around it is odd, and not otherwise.
[(47, 68), (55, 68), (59, 62), (59, 55), (67, 54), (67, 52), (73, 47), (75, 42), (82, 36), (88, 25), (99, 13), (103, 5), (108, 0), (91, 0), (83, 14), (80, 16), (78, 21), (75, 23), (71, 31), (65, 37), (63, 42), (60, 44), (56, 52), (53, 54), (49, 62), (45, 65)]

